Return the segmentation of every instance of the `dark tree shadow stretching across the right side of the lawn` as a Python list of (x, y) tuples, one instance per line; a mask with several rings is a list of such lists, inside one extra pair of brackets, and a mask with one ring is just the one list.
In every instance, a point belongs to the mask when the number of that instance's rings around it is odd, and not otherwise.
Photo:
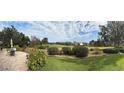
[(90, 57), (90, 58), (59, 58), (62, 62), (71, 62), (74, 64), (83, 64), (88, 66), (88, 71), (100, 71), (104, 70), (105, 66), (110, 66), (118, 70), (117, 61), (124, 58), (124, 55), (109, 55), (101, 57)]

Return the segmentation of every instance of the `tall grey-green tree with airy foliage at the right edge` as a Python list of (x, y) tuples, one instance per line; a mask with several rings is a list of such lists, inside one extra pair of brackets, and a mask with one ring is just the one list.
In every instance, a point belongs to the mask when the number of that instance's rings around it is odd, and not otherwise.
[(101, 26), (99, 33), (100, 40), (104, 41), (106, 45), (113, 45), (119, 47), (124, 43), (124, 22), (123, 21), (109, 21), (106, 26)]

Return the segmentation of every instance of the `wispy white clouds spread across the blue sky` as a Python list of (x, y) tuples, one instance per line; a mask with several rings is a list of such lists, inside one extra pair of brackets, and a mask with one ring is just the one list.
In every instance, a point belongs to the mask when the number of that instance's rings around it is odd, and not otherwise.
[[(17, 21), (16, 23), (19, 22)], [(29, 27), (25, 28), (26, 24), (21, 25), (22, 27), (19, 25), (18, 27), (21, 32), (28, 36), (36, 35), (39, 38), (48, 37), (50, 41), (78, 41), (82, 38), (90, 38), (90, 33), (99, 31), (96, 23), (101, 24), (101, 22), (95, 23), (93, 21), (89, 24), (87, 24), (87, 21), (25, 21), (24, 23), (28, 24)], [(9, 22), (7, 22), (8, 24)], [(5, 24), (0, 22), (0, 27), (3, 26)]]

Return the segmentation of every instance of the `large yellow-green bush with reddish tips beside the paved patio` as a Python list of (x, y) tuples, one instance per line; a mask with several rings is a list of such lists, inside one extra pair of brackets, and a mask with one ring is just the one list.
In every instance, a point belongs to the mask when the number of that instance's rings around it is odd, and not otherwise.
[(30, 52), (28, 67), (30, 70), (41, 70), (45, 65), (47, 55), (43, 51)]

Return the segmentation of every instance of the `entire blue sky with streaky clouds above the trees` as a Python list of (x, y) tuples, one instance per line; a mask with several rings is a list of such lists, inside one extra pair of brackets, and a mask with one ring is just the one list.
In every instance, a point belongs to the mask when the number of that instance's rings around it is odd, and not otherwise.
[(0, 31), (13, 25), (26, 36), (47, 37), (49, 42), (89, 42), (98, 39), (106, 21), (0, 21)]

